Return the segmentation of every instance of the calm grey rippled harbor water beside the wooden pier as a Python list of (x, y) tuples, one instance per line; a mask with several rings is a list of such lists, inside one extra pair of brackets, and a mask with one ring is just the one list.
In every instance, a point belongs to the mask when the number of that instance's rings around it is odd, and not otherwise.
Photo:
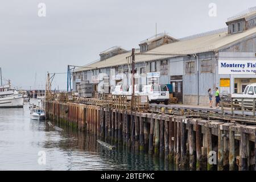
[(167, 164), (122, 147), (109, 150), (96, 137), (56, 130), (48, 121), (32, 121), (28, 104), (0, 109), (0, 170), (167, 170)]

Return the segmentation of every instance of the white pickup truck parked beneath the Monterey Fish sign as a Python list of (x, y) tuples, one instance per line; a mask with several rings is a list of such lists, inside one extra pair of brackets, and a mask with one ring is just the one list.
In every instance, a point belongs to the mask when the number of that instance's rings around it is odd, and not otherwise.
[(243, 93), (233, 93), (231, 97), (234, 101), (233, 103), (239, 104), (239, 106), (242, 106), (243, 98), (243, 106), (245, 109), (253, 109), (253, 98), (256, 98), (256, 83), (247, 85)]

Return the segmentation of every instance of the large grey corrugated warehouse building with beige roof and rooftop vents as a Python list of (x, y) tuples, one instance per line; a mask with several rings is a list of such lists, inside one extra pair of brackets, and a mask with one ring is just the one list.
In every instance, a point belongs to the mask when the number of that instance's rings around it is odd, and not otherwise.
[[(183, 104), (207, 105), (209, 88), (218, 87), (221, 94), (243, 92), (256, 82), (255, 8), (229, 18), (226, 25), (182, 39), (159, 34), (143, 40), (135, 50), (135, 84), (171, 83)], [(75, 69), (73, 90), (82, 96), (82, 85), (89, 82), (97, 95), (131, 84), (130, 56), (131, 51), (119, 46), (101, 52), (100, 60)], [(242, 63), (246, 68), (236, 67)]]

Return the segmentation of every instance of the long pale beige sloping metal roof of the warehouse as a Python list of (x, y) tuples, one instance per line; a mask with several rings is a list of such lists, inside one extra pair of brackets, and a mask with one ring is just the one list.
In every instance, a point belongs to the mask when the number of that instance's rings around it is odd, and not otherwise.
[[(236, 43), (246, 37), (256, 35), (256, 27), (246, 30), (237, 34), (228, 35), (227, 31), (218, 32), (215, 34), (209, 34), (205, 36), (196, 36), (195, 38), (185, 39), (178, 42), (165, 44), (163, 46), (156, 47), (135, 55), (135, 63), (143, 61), (152, 61), (167, 59), (168, 57), (176, 57), (177, 55), (191, 55), (200, 52), (218, 51), (219, 49), (225, 48), (230, 44)], [(139, 53), (139, 49), (135, 50), (135, 53)], [(170, 54), (170, 55), (165, 55)], [(173, 54), (173, 55), (171, 55)], [(106, 68), (113, 67), (116, 65), (127, 64), (127, 56), (131, 55), (131, 51), (122, 53), (106, 60), (97, 61), (96, 63), (88, 64), (86, 66), (92, 68)], [(81, 72), (90, 70), (92, 68), (77, 68), (75, 72)]]

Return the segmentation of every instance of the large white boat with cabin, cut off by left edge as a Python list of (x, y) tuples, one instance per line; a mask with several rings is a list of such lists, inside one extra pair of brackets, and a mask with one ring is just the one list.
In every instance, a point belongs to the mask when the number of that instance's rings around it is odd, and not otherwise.
[(23, 96), (11, 84), (0, 86), (0, 108), (23, 107)]

